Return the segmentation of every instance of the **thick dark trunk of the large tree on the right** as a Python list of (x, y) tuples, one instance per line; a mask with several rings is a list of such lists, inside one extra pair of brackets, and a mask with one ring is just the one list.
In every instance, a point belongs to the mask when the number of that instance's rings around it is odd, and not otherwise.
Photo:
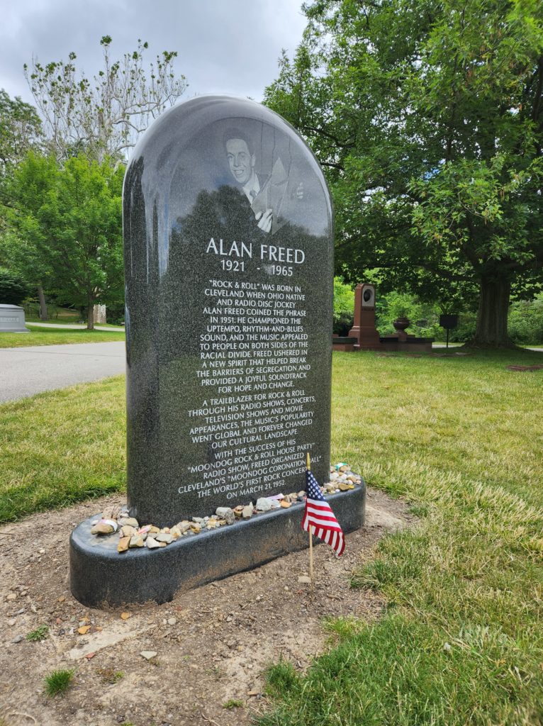
[(507, 335), (510, 280), (482, 277), (477, 327), (470, 345), (482, 348), (513, 348)]

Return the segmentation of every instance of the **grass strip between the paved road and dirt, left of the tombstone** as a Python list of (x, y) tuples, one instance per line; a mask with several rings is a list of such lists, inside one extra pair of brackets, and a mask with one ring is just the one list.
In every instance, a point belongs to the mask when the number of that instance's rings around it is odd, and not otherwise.
[(2, 404), (0, 422), (0, 521), (125, 486), (124, 376)]

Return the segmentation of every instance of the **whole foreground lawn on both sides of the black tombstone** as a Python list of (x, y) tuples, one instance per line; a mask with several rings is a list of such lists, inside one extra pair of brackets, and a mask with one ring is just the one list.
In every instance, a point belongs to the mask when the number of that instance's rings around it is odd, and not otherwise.
[[(353, 573), (380, 621), (327, 620), (306, 674), (271, 666), (261, 726), (543, 723), (543, 370), (510, 363), (543, 354), (334, 354), (333, 460), (420, 525)], [(0, 518), (122, 489), (123, 406), (122, 377), (3, 404)]]

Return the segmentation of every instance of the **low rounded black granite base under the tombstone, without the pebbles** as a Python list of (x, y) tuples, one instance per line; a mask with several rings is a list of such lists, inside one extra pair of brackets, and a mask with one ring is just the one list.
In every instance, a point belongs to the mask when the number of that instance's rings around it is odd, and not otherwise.
[[(347, 534), (364, 524), (366, 486), (327, 497)], [(220, 529), (179, 537), (160, 550), (117, 551), (118, 534), (96, 537), (83, 521), (70, 537), (70, 588), (89, 608), (167, 603), (176, 592), (250, 570), (308, 547), (301, 529), (305, 505), (273, 510)], [(314, 542), (319, 540), (314, 538)]]

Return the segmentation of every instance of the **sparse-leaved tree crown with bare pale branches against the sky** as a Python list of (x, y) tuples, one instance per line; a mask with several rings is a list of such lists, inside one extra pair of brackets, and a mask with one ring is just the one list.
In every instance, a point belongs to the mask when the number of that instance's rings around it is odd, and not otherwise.
[(112, 38), (103, 36), (102, 70), (91, 80), (78, 72), (77, 58), (42, 65), (33, 59), (25, 76), (44, 119), (52, 153), (59, 160), (84, 152), (102, 162), (107, 156), (124, 158), (152, 119), (173, 105), (187, 87), (176, 76), (176, 52), (163, 51), (148, 70), (144, 54), (148, 44), (138, 41), (136, 50), (120, 60), (110, 57)]

